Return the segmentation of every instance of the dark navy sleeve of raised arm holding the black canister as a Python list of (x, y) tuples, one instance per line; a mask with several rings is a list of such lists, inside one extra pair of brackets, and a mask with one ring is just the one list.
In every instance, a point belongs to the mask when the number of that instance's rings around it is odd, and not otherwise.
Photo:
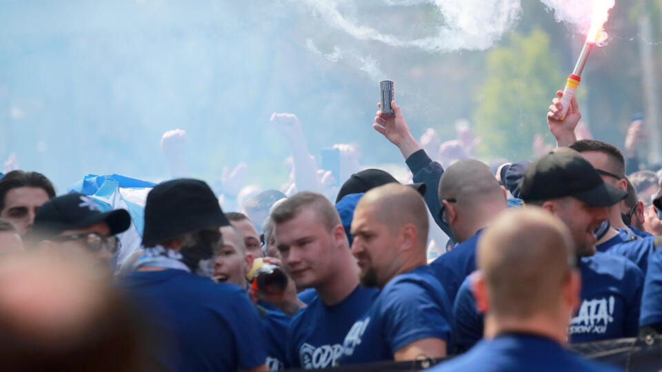
[[(439, 218), (439, 211), (441, 210), (441, 203), (439, 203), (439, 180), (443, 174), (443, 167), (436, 161), (432, 161), (428, 154), (425, 154), (424, 149), (420, 149), (414, 154), (411, 154), (405, 161), (407, 166), (414, 174), (415, 183), (425, 183), (425, 204), (430, 209), (430, 214), (434, 218), (434, 222), (439, 225), (441, 230), (453, 239), (453, 234), (450, 232), (450, 227), (441, 222)], [(453, 240), (455, 241), (455, 240)]]

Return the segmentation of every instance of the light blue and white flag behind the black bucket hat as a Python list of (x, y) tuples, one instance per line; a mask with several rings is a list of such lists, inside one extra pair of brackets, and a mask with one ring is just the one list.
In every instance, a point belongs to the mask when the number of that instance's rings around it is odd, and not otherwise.
[(126, 209), (131, 215), (132, 225), (118, 235), (121, 247), (117, 253), (117, 267), (137, 249), (140, 249), (145, 225), (145, 202), (147, 194), (156, 183), (110, 174), (97, 176), (88, 174), (83, 180), (68, 187), (68, 192), (80, 192), (94, 198), (102, 211)]

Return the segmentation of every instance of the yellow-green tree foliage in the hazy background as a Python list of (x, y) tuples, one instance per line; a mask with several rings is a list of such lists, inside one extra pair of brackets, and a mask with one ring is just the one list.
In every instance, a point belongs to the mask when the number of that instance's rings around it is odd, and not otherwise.
[(532, 156), (534, 134), (552, 142), (545, 114), (565, 74), (551, 46), (549, 35), (536, 29), (529, 36), (514, 33), (510, 45), (490, 51), (474, 112), (481, 155), (519, 161)]

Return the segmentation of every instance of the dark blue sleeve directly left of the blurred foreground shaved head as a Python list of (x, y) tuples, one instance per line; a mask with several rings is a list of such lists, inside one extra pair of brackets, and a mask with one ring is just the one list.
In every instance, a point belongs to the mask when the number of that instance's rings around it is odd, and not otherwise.
[(471, 291), (470, 277), (462, 283), (453, 304), (457, 353), (471, 349), (483, 338), (483, 314), (479, 313)]

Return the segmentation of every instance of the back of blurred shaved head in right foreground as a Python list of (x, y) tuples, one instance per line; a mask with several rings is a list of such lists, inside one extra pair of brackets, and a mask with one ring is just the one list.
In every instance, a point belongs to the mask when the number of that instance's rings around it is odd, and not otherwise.
[(494, 316), (555, 315), (574, 264), (574, 243), (568, 227), (543, 209), (511, 209), (481, 236), (477, 262)]

